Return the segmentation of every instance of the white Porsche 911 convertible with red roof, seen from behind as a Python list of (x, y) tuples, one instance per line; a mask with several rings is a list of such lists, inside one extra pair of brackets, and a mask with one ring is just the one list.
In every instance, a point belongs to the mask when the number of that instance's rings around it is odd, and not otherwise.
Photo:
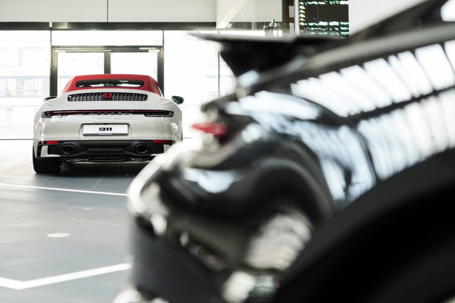
[(65, 161), (151, 160), (182, 140), (183, 98), (171, 99), (150, 76), (74, 77), (35, 114), (34, 170), (59, 172)]

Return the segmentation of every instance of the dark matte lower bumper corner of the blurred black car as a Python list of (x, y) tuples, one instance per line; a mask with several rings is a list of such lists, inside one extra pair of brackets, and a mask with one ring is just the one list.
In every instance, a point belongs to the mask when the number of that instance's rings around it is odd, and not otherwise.
[(148, 303), (157, 298), (171, 303), (223, 302), (211, 287), (214, 285), (212, 272), (179, 243), (173, 245), (167, 240), (160, 243), (153, 227), (141, 220), (134, 218), (131, 224), (134, 262), (126, 290), (133, 290), (140, 300), (128, 300), (125, 295), (122, 300), (122, 296), (117, 296), (114, 303)]

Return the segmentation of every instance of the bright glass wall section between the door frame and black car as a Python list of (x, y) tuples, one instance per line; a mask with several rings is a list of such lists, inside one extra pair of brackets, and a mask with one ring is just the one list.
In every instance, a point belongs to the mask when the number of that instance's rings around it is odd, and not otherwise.
[(181, 105), (184, 137), (195, 134), (190, 126), (200, 119), (200, 105), (230, 92), (235, 85), (232, 72), (218, 54), (218, 44), (197, 38), (195, 33), (200, 32), (164, 32), (165, 97), (185, 98)]

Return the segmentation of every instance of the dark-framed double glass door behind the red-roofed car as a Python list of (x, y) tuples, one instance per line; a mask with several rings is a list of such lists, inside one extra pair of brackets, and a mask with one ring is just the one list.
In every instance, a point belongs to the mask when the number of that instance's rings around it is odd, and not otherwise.
[(62, 93), (76, 75), (138, 74), (149, 75), (163, 86), (161, 46), (53, 47), (50, 95)]

